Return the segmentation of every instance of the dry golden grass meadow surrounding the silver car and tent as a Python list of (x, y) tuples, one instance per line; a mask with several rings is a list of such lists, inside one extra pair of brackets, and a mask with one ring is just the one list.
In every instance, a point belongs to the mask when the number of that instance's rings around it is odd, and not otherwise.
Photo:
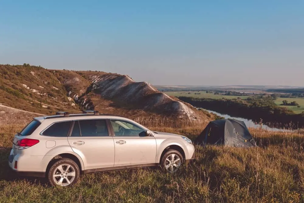
[[(202, 125), (152, 130), (194, 139)], [(157, 122), (155, 122), (157, 123)], [(303, 202), (304, 132), (250, 129), (258, 147), (195, 146), (196, 160), (175, 174), (158, 168), (87, 174), (72, 187), (50, 187), (45, 179), (17, 177), (9, 171), (13, 135), (24, 124), (0, 125), (0, 202)], [(153, 127), (154, 126), (154, 127)]]

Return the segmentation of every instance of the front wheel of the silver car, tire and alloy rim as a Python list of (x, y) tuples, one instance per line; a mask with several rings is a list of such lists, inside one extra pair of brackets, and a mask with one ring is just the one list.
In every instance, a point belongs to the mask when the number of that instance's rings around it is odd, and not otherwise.
[(177, 150), (168, 150), (161, 158), (161, 167), (163, 171), (174, 173), (184, 163), (184, 158)]

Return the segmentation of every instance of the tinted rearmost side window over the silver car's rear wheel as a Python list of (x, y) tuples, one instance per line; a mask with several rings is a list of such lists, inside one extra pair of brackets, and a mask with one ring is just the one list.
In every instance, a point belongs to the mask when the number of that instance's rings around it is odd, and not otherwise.
[(43, 135), (45, 136), (53, 136), (53, 137), (67, 137), (71, 127), (71, 121), (57, 122), (51, 125), (48, 129), (43, 131)]

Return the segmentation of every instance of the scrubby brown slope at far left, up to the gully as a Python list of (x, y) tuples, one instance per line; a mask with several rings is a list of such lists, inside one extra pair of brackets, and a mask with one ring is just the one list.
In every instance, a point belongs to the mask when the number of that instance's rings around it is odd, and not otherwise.
[(26, 64), (0, 65), (0, 103), (43, 114), (78, 110), (54, 74), (42, 67)]

